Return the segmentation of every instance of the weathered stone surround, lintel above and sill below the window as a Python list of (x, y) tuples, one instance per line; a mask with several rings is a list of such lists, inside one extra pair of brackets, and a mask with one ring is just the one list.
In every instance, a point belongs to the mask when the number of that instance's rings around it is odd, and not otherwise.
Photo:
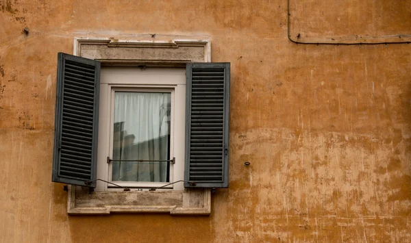
[[(75, 38), (73, 55), (99, 60), (102, 66), (185, 66), (187, 62), (210, 62), (210, 40), (116, 40)], [(169, 213), (209, 215), (211, 190), (156, 190), (88, 192), (69, 186), (68, 214)]]

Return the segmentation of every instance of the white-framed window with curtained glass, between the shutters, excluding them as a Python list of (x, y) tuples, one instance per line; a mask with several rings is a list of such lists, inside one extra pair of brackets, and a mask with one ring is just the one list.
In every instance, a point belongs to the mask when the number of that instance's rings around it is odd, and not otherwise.
[[(166, 184), (184, 180), (186, 70), (101, 68), (100, 85), (97, 178), (183, 190)], [(96, 190), (119, 187), (97, 181)]]

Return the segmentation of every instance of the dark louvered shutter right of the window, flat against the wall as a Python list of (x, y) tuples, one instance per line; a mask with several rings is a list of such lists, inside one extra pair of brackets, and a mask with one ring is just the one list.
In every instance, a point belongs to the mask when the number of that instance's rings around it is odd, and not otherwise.
[(229, 63), (186, 66), (185, 187), (228, 187)]

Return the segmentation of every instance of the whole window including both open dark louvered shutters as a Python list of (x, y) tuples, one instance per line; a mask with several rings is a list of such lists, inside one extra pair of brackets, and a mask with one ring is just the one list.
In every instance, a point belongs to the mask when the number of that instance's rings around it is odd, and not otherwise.
[(59, 53), (53, 181), (227, 187), (229, 64), (188, 63), (185, 75), (162, 79), (114, 69)]

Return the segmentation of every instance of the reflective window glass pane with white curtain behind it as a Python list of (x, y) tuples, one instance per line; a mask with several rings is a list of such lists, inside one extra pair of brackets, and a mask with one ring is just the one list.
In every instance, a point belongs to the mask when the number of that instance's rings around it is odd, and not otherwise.
[(169, 181), (170, 114), (171, 93), (114, 93), (112, 181)]

